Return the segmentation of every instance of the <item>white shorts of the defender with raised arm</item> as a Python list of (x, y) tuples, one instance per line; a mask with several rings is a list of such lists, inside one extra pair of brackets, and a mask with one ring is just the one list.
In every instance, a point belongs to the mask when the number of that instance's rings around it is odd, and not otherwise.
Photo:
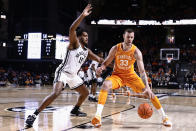
[(75, 89), (81, 86), (84, 82), (78, 75), (69, 74), (63, 71), (56, 70), (54, 83), (61, 81), (66, 86), (66, 83), (69, 85), (70, 89)]

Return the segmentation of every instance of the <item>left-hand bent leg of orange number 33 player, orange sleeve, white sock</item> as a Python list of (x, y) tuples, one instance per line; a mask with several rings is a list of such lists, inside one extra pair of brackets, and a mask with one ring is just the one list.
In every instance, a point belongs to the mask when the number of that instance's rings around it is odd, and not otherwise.
[(114, 76), (114, 75), (106, 78), (106, 80), (103, 82), (103, 85), (99, 93), (97, 111), (96, 111), (95, 117), (91, 121), (91, 123), (95, 127), (101, 126), (101, 114), (102, 114), (103, 107), (107, 100), (109, 89), (116, 89), (121, 86), (122, 86), (122, 80), (118, 76)]

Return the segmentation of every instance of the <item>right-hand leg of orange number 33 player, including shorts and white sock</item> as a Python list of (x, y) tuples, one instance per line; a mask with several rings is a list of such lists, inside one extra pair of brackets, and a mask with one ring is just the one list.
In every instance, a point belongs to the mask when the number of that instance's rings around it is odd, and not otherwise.
[[(144, 91), (145, 85), (142, 82), (141, 78), (138, 77), (137, 75), (134, 76), (134, 79), (132, 78), (132, 79), (128, 79), (126, 81), (127, 81), (127, 85), (129, 87), (131, 87), (134, 92), (142, 93)], [(144, 94), (144, 98), (149, 98), (148, 94)], [(157, 96), (155, 96), (154, 98), (152, 98), (150, 100), (151, 100), (153, 106), (157, 109), (157, 111), (161, 115), (162, 120), (163, 120), (163, 125), (172, 126), (172, 123), (169, 121), (167, 115), (165, 114), (165, 111), (164, 111), (159, 99), (157, 98)]]

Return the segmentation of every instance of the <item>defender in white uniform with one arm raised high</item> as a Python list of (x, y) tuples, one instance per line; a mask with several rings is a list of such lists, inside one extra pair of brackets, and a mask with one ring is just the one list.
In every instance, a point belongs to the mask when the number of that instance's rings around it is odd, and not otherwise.
[(60, 95), (66, 84), (80, 94), (75, 107), (71, 111), (71, 115), (80, 117), (87, 116), (87, 114), (81, 112), (79, 108), (88, 96), (89, 92), (83, 84), (83, 80), (77, 75), (77, 73), (87, 57), (100, 63), (103, 62), (103, 59), (95, 55), (86, 47), (88, 45), (87, 32), (80, 30), (76, 33), (76, 29), (81, 21), (91, 13), (91, 9), (91, 5), (88, 4), (82, 14), (71, 25), (69, 29), (70, 44), (67, 48), (67, 53), (63, 62), (56, 69), (53, 92), (43, 100), (42, 104), (32, 115), (27, 117), (25, 122), (26, 127), (33, 126), (36, 116)]

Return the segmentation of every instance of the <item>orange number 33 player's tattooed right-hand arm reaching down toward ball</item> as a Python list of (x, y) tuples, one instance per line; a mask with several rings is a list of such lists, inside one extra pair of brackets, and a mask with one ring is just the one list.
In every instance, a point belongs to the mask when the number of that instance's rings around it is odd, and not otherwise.
[(146, 72), (145, 72), (145, 69), (144, 69), (144, 62), (143, 62), (142, 53), (138, 48), (136, 48), (134, 55), (135, 55), (135, 58), (136, 58), (136, 61), (137, 61), (137, 66), (138, 66), (138, 69), (139, 69), (140, 77), (141, 77), (141, 79), (144, 82), (144, 85), (146, 87), (145, 90), (144, 90), (144, 94), (148, 94), (149, 98), (154, 98), (154, 94), (152, 93), (152, 91), (149, 87), (149, 84), (148, 84), (148, 78), (147, 78), (147, 75), (146, 75)]

